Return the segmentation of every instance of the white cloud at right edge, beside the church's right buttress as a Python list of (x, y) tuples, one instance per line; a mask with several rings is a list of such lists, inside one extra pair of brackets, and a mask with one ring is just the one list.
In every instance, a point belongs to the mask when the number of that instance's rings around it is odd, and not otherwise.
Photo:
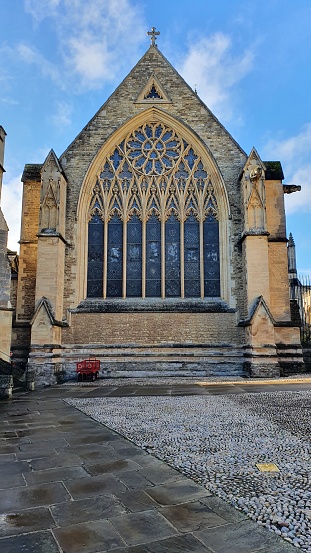
[(267, 159), (280, 159), (285, 183), (301, 186), (300, 192), (285, 196), (286, 212), (311, 211), (311, 123), (286, 139), (272, 139), (264, 147)]

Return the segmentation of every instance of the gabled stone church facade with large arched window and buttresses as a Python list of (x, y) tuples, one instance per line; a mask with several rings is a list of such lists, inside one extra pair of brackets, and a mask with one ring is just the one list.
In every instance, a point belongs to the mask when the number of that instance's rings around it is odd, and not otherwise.
[[(26, 165), (12, 351), (38, 379), (302, 367), (279, 162), (152, 44), (66, 151)], [(295, 326), (296, 325), (296, 326)]]

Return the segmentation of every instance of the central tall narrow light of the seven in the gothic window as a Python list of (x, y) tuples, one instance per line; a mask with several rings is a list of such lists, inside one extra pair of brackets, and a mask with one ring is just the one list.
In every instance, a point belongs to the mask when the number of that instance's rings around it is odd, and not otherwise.
[(152, 215), (146, 223), (146, 296), (161, 297), (161, 223)]

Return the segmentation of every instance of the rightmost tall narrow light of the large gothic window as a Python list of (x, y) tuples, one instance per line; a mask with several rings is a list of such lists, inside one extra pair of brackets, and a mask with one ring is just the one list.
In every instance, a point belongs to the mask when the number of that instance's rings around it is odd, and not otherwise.
[(204, 295), (220, 296), (219, 224), (209, 215), (203, 224), (204, 239)]

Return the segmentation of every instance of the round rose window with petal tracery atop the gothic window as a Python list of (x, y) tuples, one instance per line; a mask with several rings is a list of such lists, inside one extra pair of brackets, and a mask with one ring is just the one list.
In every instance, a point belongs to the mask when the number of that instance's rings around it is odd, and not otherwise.
[(148, 124), (131, 134), (125, 149), (127, 158), (137, 171), (146, 175), (162, 175), (174, 167), (182, 144), (173, 130), (161, 124)]

